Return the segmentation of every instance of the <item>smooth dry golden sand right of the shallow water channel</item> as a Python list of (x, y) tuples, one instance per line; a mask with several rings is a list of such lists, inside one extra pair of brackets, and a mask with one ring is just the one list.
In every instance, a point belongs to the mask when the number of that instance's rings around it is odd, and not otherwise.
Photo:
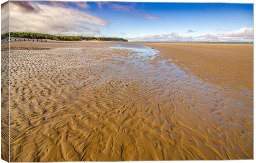
[(164, 59), (187, 68), (209, 83), (236, 90), (253, 90), (253, 44), (144, 43), (164, 53)]

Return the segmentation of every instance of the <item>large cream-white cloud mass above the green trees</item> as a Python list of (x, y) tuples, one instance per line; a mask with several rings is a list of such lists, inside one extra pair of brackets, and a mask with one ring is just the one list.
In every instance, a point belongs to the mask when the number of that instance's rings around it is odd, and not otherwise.
[(26, 2), (25, 4), (19, 3), (19, 1), (13, 2), (11, 1), (10, 4), (10, 30), (12, 32), (96, 36), (100, 30), (85, 24), (95, 26), (107, 26), (109, 24), (102, 18), (71, 7), (33, 2)]

